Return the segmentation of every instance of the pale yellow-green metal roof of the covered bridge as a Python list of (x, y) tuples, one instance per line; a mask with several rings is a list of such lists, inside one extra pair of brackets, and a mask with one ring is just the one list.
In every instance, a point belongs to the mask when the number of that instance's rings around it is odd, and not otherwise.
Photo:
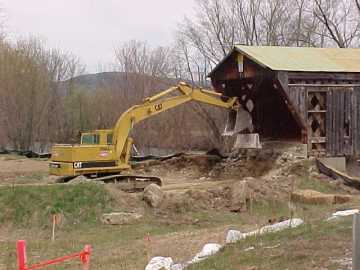
[(276, 71), (360, 72), (360, 49), (236, 45), (234, 50)]

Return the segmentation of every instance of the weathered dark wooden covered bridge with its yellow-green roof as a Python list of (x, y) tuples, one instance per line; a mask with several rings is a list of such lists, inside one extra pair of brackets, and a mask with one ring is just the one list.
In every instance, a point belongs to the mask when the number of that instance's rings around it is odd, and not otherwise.
[(235, 46), (209, 74), (238, 96), (261, 140), (360, 156), (360, 49)]

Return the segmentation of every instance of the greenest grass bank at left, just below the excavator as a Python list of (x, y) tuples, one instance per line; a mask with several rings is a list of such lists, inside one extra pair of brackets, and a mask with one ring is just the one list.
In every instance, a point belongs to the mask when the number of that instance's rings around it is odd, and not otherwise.
[(96, 184), (2, 187), (0, 224), (49, 226), (52, 214), (61, 214), (68, 225), (97, 223), (110, 200)]

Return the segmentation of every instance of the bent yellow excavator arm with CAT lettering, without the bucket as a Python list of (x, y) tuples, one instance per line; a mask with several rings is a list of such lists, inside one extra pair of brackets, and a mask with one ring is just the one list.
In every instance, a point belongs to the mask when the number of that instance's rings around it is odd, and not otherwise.
[(128, 136), (135, 124), (189, 101), (233, 110), (239, 106), (236, 97), (229, 98), (214, 91), (192, 88), (186, 83), (180, 83), (178, 86), (146, 98), (142, 104), (131, 107), (120, 116), (113, 135), (116, 155), (121, 157), (125, 153), (125, 156), (129, 156), (131, 141), (129, 141)]

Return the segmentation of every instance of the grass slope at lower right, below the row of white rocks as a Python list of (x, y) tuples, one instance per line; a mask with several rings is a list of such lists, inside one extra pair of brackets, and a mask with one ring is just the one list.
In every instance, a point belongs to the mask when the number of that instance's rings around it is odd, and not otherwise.
[[(339, 222), (317, 222), (247, 238), (226, 246), (217, 255), (191, 266), (189, 270), (238, 270), (242, 267), (300, 270), (319, 266), (339, 269), (330, 258), (345, 257), (344, 246), (347, 245), (351, 245), (351, 218)], [(246, 251), (249, 247), (253, 249)]]

